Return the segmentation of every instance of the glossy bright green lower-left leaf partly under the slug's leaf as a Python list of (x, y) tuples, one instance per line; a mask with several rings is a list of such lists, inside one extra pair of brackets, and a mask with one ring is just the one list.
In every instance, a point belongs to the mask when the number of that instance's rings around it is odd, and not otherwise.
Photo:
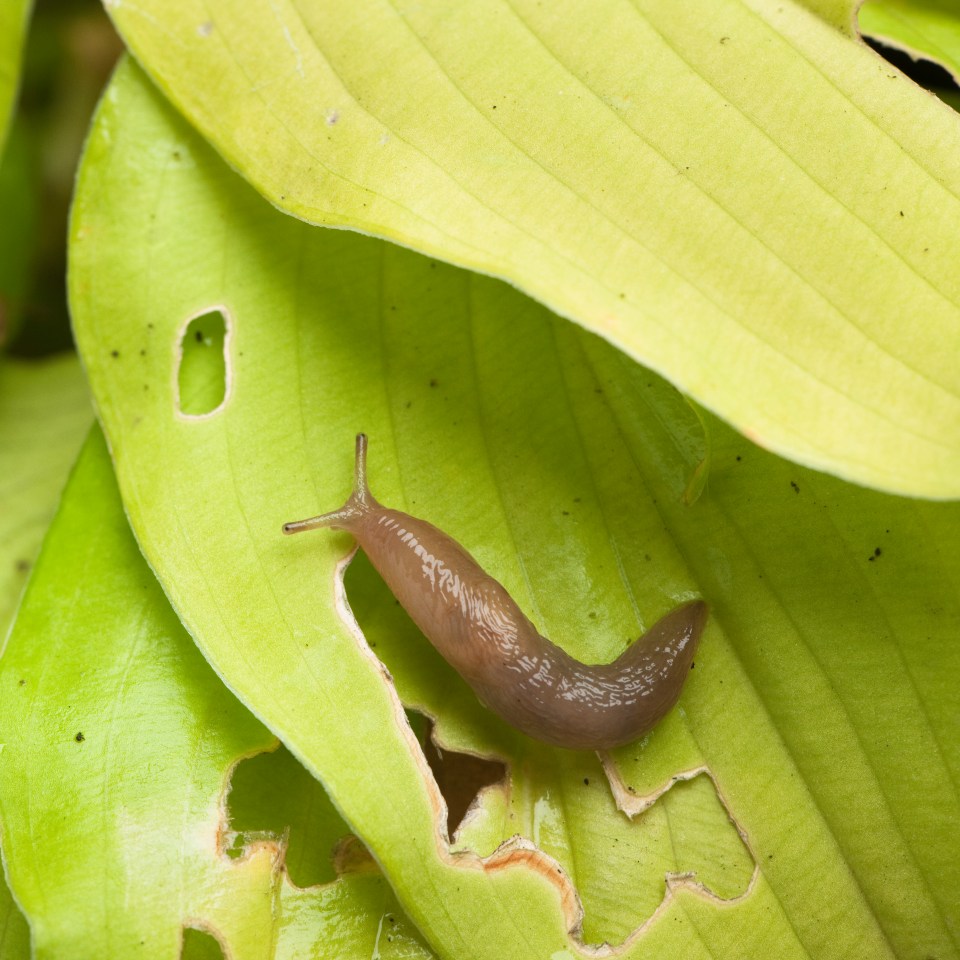
[[(238, 960), (427, 960), (375, 870), (294, 887), (267, 829), (228, 856), (228, 774), (275, 742), (170, 609), (96, 431), (0, 661), (3, 852), (34, 956), (173, 960), (194, 929)], [(234, 788), (264, 812), (255, 778)], [(325, 799), (299, 826), (346, 832)]]

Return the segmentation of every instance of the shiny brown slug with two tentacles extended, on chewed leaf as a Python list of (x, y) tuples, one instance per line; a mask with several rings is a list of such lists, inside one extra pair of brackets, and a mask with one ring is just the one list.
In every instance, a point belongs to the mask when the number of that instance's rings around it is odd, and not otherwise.
[(349, 531), (427, 639), (507, 723), (538, 740), (603, 750), (644, 734), (673, 706), (703, 632), (707, 605), (685, 603), (612, 663), (584, 664), (541, 636), (506, 589), (451, 537), (381, 506), (357, 436), (356, 481), (333, 513), (284, 524)]

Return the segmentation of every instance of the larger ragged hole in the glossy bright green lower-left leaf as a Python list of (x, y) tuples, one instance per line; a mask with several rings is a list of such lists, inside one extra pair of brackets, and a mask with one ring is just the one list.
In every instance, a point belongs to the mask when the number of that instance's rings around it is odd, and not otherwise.
[(336, 878), (334, 851), (350, 828), (323, 786), (285, 747), (241, 760), (227, 795), (227, 854), (242, 856), (254, 843), (286, 848), (287, 874), (298, 887)]

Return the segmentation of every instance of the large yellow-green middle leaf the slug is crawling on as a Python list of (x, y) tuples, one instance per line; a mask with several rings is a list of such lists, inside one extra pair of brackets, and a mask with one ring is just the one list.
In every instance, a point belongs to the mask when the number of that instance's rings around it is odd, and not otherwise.
[[(957, 507), (825, 478), (714, 420), (691, 496), (703, 435), (661, 380), (500, 282), (283, 216), (129, 64), (71, 256), (150, 565), (437, 954), (626, 936), (631, 958), (957, 956)], [(343, 501), (361, 429), (377, 496), (464, 543), (585, 661), (705, 596), (677, 710), (601, 766), (481, 710), (356, 566), (361, 634), (350, 538), (280, 534)], [(452, 844), (404, 705), (508, 765)]]

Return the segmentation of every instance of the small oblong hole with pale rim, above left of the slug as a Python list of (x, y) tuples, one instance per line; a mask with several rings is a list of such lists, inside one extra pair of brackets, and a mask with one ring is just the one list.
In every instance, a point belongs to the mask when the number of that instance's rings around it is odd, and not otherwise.
[(208, 416), (223, 407), (230, 387), (228, 345), (224, 311), (211, 310), (187, 323), (177, 370), (178, 406), (184, 416)]

